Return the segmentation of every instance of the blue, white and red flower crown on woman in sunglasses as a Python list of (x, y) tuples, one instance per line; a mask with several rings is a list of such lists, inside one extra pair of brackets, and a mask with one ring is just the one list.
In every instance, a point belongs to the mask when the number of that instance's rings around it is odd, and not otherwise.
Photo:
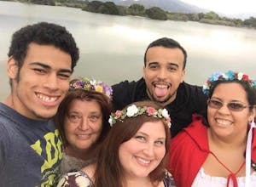
[(256, 80), (251, 80), (246, 74), (236, 71), (214, 72), (208, 77), (207, 82), (203, 85), (202, 91), (204, 94), (209, 94), (212, 83), (216, 81), (233, 81), (238, 80), (241, 82), (247, 82), (251, 88), (256, 90)]

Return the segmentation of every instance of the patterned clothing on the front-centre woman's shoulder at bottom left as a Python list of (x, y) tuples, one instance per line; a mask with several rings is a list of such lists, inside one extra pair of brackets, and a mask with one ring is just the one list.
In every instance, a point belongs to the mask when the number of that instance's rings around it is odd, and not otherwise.
[(92, 181), (90, 177), (83, 171), (71, 172), (62, 175), (57, 187), (91, 187)]

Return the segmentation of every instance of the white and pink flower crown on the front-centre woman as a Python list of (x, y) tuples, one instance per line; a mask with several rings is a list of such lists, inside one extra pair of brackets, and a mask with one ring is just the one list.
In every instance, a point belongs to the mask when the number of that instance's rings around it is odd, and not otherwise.
[(122, 111), (118, 110), (114, 113), (111, 113), (108, 122), (110, 126), (113, 127), (113, 124), (117, 121), (123, 122), (125, 117), (136, 117), (143, 114), (146, 114), (148, 116), (154, 116), (160, 119), (164, 118), (168, 127), (171, 127), (171, 117), (169, 116), (168, 111), (166, 109), (154, 109), (154, 107), (151, 106), (128, 106), (127, 109), (124, 109)]

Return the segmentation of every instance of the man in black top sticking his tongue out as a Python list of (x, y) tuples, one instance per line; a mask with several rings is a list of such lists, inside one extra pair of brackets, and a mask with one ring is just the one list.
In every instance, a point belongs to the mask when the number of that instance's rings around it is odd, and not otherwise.
[(193, 113), (207, 109), (201, 87), (183, 82), (187, 53), (171, 38), (151, 42), (144, 54), (143, 78), (113, 85), (113, 107), (122, 109), (139, 100), (151, 99), (165, 107), (172, 118), (172, 137), (192, 121)]

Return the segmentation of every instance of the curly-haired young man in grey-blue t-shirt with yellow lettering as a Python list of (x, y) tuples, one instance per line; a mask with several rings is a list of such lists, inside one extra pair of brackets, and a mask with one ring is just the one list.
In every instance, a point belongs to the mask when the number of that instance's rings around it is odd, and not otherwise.
[(62, 26), (16, 31), (7, 64), (11, 93), (0, 103), (0, 186), (52, 186), (61, 161), (50, 120), (67, 93), (79, 48)]

